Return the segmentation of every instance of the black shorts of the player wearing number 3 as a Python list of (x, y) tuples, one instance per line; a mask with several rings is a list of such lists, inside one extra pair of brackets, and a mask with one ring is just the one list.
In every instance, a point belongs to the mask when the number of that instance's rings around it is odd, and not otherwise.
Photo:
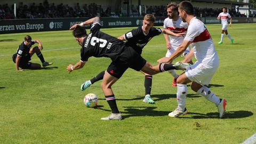
[(143, 59), (140, 54), (135, 52), (132, 47), (127, 46), (119, 57), (110, 63), (107, 71), (111, 76), (120, 78), (127, 68), (140, 71), (142, 67), (145, 66), (146, 62), (147, 61)]

